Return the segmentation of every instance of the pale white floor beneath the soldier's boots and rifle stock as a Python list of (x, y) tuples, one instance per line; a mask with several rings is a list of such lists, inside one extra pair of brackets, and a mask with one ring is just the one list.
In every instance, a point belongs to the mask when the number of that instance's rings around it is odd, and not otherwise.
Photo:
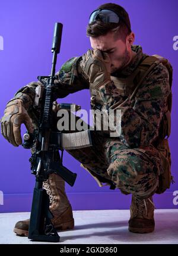
[[(0, 243), (39, 243), (12, 231), (18, 220), (30, 213), (0, 214)], [(75, 229), (59, 232), (65, 244), (89, 243), (177, 243), (178, 209), (155, 210), (155, 231), (135, 234), (128, 231), (129, 210), (74, 211)], [(42, 243), (42, 242), (40, 242)]]

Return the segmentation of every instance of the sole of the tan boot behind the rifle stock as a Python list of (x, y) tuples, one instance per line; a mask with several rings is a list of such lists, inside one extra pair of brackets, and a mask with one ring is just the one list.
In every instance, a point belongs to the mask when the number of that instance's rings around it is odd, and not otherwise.
[[(59, 225), (55, 226), (56, 230), (67, 230), (67, 229), (74, 229), (74, 218), (70, 221), (67, 221), (65, 223), (61, 223)], [(17, 236), (28, 236), (28, 231), (23, 229), (17, 229), (17, 227), (14, 227), (14, 233), (17, 234)]]

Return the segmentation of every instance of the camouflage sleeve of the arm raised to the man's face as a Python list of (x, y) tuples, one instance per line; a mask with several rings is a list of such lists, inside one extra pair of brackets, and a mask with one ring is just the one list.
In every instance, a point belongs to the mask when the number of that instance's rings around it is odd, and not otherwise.
[(129, 102), (119, 108), (120, 140), (126, 146), (149, 146), (157, 138), (169, 93), (169, 71), (160, 63), (145, 77), (136, 93), (134, 104)]

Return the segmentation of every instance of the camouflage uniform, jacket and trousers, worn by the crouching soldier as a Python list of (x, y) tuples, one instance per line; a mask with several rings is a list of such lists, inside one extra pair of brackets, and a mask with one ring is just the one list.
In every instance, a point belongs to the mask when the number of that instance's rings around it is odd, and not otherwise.
[[(132, 51), (136, 52), (134, 59), (112, 76), (129, 76), (148, 56), (143, 54), (139, 45), (133, 45)], [(90, 88), (89, 82), (82, 76), (80, 63), (81, 57), (71, 58), (56, 74), (56, 98)], [(58, 80), (65, 85), (58, 86)], [(34, 83), (30, 85), (33, 89)], [(94, 131), (93, 146), (66, 151), (100, 182), (113, 183), (125, 194), (133, 193), (148, 198), (156, 191), (158, 176), (163, 173), (159, 152), (152, 142), (158, 136), (169, 93), (169, 73), (160, 63), (145, 77), (135, 97), (119, 108), (121, 135), (118, 138), (108, 138), (104, 133)], [(124, 102), (128, 96), (120, 94), (113, 83), (102, 88), (100, 95), (109, 108), (116, 102)]]

